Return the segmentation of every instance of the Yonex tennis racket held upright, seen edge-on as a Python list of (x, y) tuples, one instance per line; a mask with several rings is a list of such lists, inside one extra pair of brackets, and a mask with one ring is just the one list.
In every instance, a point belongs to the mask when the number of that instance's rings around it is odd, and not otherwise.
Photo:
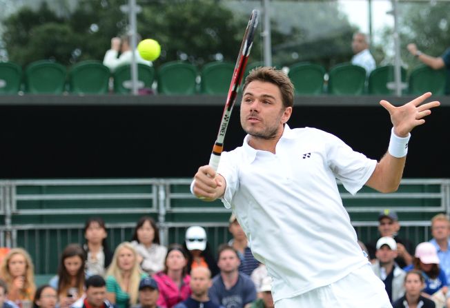
[(250, 55), (251, 46), (253, 44), (253, 37), (255, 37), (255, 30), (258, 24), (259, 15), (260, 12), (258, 12), (258, 10), (253, 10), (251, 12), (250, 20), (248, 21), (248, 25), (245, 30), (244, 39), (242, 39), (241, 49), (239, 50), (239, 54), (237, 56), (235, 70), (233, 72), (233, 77), (231, 78), (230, 89), (228, 90), (228, 96), (226, 98), (224, 113), (222, 114), (222, 121), (220, 121), (219, 133), (217, 134), (217, 139), (213, 146), (211, 158), (209, 158), (208, 165), (213, 167), (214, 170), (217, 170), (217, 167), (219, 167), (220, 155), (224, 150), (226, 128), (228, 127), (228, 122), (230, 121), (233, 105), (235, 105), (237, 90), (239, 90), (239, 85), (241, 84), (242, 77), (244, 76), (248, 56)]

